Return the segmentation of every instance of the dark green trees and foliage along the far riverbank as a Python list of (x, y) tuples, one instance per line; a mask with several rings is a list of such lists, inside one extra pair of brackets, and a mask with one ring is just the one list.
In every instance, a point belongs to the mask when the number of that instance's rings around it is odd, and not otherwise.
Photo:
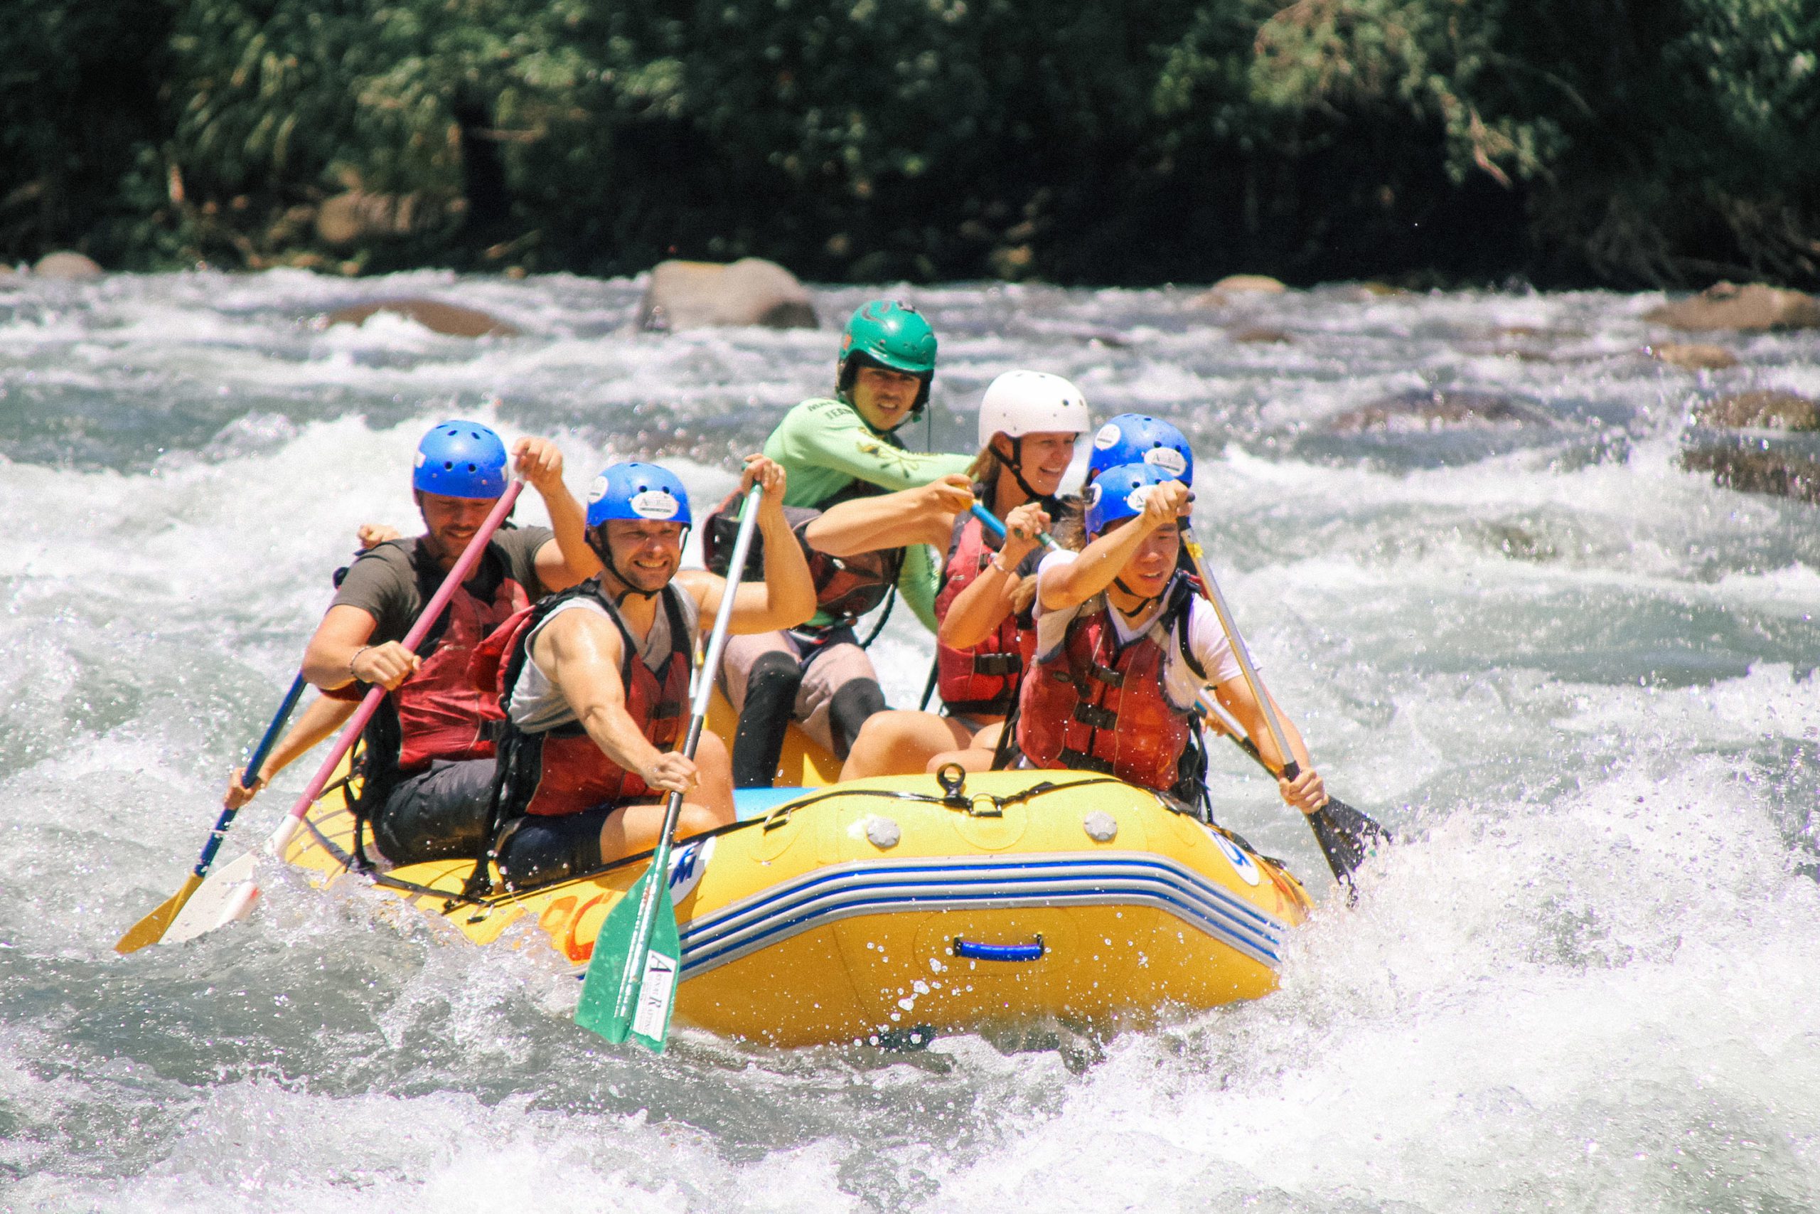
[(11, 9), (5, 258), (1820, 284), (1820, 0)]

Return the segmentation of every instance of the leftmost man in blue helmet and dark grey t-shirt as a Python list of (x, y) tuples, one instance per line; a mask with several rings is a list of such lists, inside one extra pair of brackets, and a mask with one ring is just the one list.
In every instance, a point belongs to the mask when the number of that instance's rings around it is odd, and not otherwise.
[[(304, 652), (304, 677), (326, 695), (359, 699), (371, 684), (391, 692), (362, 739), (355, 814), (393, 865), (484, 846), (488, 715), (497, 712), (468, 683), (468, 655), (515, 610), (573, 586), (592, 566), (581, 504), (562, 486), (562, 453), (546, 439), (521, 439), (513, 459), (544, 499), (553, 531), (500, 528), (417, 653), (406, 650), (400, 641), (506, 491), (499, 435), (479, 422), (442, 422), (424, 435), (411, 473), (424, 533), (360, 553)], [(588, 564), (571, 564), (564, 551)]]

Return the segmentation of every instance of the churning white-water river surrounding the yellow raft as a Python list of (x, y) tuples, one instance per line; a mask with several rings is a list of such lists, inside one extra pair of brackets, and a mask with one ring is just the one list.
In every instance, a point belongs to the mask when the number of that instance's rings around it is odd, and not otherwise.
[[(413, 293), (526, 335), (311, 324)], [(195, 863), (353, 528), (413, 524), (428, 424), (553, 435), (577, 490), (661, 455), (701, 510), (828, 384), (826, 329), (637, 335), (637, 295), (0, 278), (0, 1209), (1820, 1207), (1820, 515), (1678, 466), (1702, 397), (1820, 395), (1820, 339), (1676, 371), (1640, 353), (1658, 297), (908, 291), (941, 333), (937, 446), (972, 444), (1016, 366), (1192, 435), (1198, 528), (1278, 699), (1401, 835), (1356, 910), (1321, 890), (1269, 999), (1108, 1041), (684, 1032), (650, 1057), (577, 1030), (542, 950), (280, 872), (249, 923), (116, 957)], [(1540, 420), (1325, 431), (1436, 388)], [(908, 613), (875, 652), (912, 701)], [(1214, 786), (1325, 875), (1236, 752)]]

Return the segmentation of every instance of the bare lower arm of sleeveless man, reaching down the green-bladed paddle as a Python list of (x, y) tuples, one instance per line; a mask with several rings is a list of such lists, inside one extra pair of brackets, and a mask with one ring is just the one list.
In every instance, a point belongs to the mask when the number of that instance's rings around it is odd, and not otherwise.
[(626, 713), (626, 684), (619, 664), (619, 630), (597, 612), (557, 615), (531, 646), (531, 661), (562, 692), (588, 737), (610, 763), (637, 772), (652, 788), (688, 792), (699, 781), (695, 763), (652, 746)]

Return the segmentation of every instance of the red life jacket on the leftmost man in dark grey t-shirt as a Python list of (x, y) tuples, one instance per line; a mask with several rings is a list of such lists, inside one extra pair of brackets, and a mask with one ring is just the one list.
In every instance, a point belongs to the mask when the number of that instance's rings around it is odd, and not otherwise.
[[(435, 597), (442, 570), (419, 546), (411, 555), (424, 602)], [(488, 590), (491, 586), (491, 590)], [(479, 593), (475, 593), (479, 590)], [(499, 717), (490, 692), (468, 681), (468, 657), (480, 641), (513, 612), (530, 604), (524, 586), (506, 572), (506, 559), (488, 544), (475, 577), (455, 588), (442, 615), (417, 646), (424, 664), (386, 695), (380, 713), (366, 733), (368, 754), (379, 766), (369, 774), (388, 783), (386, 768), (415, 774), (433, 759), (490, 759)], [(366, 686), (349, 683), (331, 699), (360, 699)]]

